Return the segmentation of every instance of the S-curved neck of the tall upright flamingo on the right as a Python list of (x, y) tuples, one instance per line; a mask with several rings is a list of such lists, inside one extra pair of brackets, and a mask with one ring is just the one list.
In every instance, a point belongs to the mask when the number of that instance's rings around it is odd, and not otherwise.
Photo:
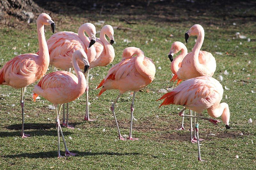
[(199, 31), (197, 35), (196, 44), (192, 50), (192, 56), (194, 60), (194, 65), (193, 64), (192, 65), (194, 66), (194, 69), (199, 73), (204, 72), (204, 68), (202, 64), (199, 63), (199, 59), (198, 59), (198, 55), (203, 45), (203, 42), (204, 42), (204, 30)]

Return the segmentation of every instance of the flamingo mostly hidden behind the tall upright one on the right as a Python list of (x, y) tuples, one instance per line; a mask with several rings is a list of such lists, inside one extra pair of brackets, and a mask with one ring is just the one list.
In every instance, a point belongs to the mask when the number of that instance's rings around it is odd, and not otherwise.
[[(181, 50), (180, 55), (175, 57), (173, 59), (173, 55), (178, 53)], [(181, 62), (183, 58), (188, 54), (188, 49), (187, 47), (180, 41), (175, 41), (172, 43), (172, 47), (170, 49), (170, 53), (168, 55), (170, 61), (171, 61), (171, 71), (173, 74), (176, 74), (176, 72), (180, 69), (181, 67)], [(182, 124), (180, 128), (176, 128), (178, 130), (184, 130), (184, 117), (182, 117)]]

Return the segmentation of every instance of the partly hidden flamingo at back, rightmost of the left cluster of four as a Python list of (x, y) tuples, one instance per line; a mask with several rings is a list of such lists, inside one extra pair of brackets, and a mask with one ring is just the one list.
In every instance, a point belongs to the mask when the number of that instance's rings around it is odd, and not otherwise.
[[(108, 42), (106, 35), (110, 39), (110, 43)], [(114, 30), (113, 27), (110, 25), (105, 25), (100, 30), (100, 38), (96, 38), (96, 42), (94, 44), (94, 47), (96, 49), (96, 56), (94, 60), (90, 63), (90, 69), (93, 67), (98, 66), (106, 66), (109, 63), (112, 63), (115, 58), (115, 50), (113, 48), (114, 44)], [(90, 70), (88, 70), (89, 73)], [(87, 87), (88, 87), (88, 81), (89, 74), (87, 74)], [(89, 118), (89, 106), (88, 106), (88, 90), (86, 89), (86, 113), (84, 120), (86, 121), (93, 121), (93, 119)]]

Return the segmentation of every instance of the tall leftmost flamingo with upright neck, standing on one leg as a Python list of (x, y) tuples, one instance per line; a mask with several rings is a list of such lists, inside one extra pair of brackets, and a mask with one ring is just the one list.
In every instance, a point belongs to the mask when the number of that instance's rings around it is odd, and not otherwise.
[(52, 33), (54, 33), (55, 23), (46, 13), (40, 14), (36, 23), (39, 43), (38, 55), (34, 53), (18, 55), (8, 61), (0, 70), (0, 85), (21, 89), (22, 138), (30, 137), (30, 135), (24, 134), (24, 88), (42, 78), (49, 66), (50, 59), (44, 36), (44, 25), (51, 25)]

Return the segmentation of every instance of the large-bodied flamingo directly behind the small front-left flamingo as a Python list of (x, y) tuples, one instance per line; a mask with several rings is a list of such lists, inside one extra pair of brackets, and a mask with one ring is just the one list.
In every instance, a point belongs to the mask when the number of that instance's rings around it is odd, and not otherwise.
[[(91, 40), (84, 34), (84, 31), (89, 35)], [(50, 54), (50, 64), (60, 68), (61, 70), (68, 70), (73, 67), (72, 55), (74, 51), (83, 49), (88, 56), (89, 63), (92, 62), (96, 56), (96, 50), (93, 44), (96, 42), (96, 28), (91, 23), (85, 23), (78, 28), (78, 33), (70, 31), (62, 31), (53, 34), (48, 40), (47, 45)], [(83, 69), (82, 62), (78, 62), (79, 68)], [(88, 74), (88, 73), (87, 73)], [(87, 88), (89, 88), (87, 86)], [(64, 104), (65, 105), (65, 104)], [(63, 105), (63, 122), (64, 127), (72, 128), (68, 125), (68, 103), (67, 103), (67, 119), (65, 123), (65, 106)]]

